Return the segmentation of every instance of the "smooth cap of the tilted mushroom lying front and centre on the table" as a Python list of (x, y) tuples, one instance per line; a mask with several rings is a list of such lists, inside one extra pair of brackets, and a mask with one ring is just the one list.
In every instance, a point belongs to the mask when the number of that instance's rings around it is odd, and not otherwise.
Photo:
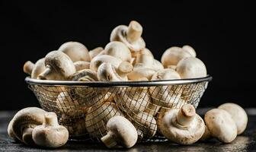
[(107, 122), (107, 131), (111, 131), (118, 144), (123, 147), (133, 147), (138, 139), (134, 125), (123, 116), (114, 116)]

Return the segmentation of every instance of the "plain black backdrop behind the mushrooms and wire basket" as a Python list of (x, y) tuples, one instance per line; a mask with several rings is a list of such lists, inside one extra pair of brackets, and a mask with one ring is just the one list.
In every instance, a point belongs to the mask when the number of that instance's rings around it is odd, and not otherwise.
[[(123, 2), (123, 4), (121, 4)], [(252, 4), (131, 1), (0, 2), (1, 106), (39, 106), (22, 67), (67, 41), (105, 46), (111, 30), (139, 21), (146, 46), (160, 59), (165, 49), (189, 44), (213, 76), (200, 106), (232, 101), (256, 106), (255, 16)]]

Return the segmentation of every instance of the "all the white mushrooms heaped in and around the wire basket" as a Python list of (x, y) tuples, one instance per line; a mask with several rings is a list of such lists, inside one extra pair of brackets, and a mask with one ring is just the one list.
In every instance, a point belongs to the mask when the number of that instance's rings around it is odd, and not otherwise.
[[(82, 43), (64, 43), (35, 64), (26, 62), (24, 72), (34, 79), (57, 81), (157, 81), (203, 78), (207, 74), (206, 66), (197, 59), (191, 46), (171, 47), (164, 52), (161, 62), (158, 62), (152, 52), (146, 49), (146, 43), (142, 39), (142, 26), (136, 21), (131, 21), (129, 26), (115, 27), (110, 34), (110, 43), (104, 48), (88, 51)], [(234, 103), (226, 103), (218, 109), (206, 112), (204, 122), (197, 115), (194, 106), (185, 101), (181, 103), (180, 109), (172, 109), (178, 107), (174, 105), (178, 102), (168, 91), (176, 93), (175, 90), (165, 91), (167, 86), (150, 87), (148, 96), (143, 93), (145, 88), (138, 88), (127, 88), (126, 91), (130, 93), (120, 92), (114, 97), (103, 98), (107, 100), (101, 102), (90, 98), (94, 92), (90, 88), (85, 90), (78, 87), (72, 90), (78, 97), (90, 100), (85, 103), (85, 120), (81, 120), (85, 123), (86, 132), (92, 138), (101, 138), (107, 147), (133, 147), (141, 138), (152, 138), (156, 132), (178, 144), (193, 144), (210, 137), (229, 143), (247, 125), (245, 110)], [(106, 90), (100, 91), (102, 93)], [(131, 100), (131, 94), (134, 96), (138, 92), (138, 100)], [(108, 95), (107, 92), (104, 93)], [(165, 100), (159, 94), (165, 94)], [(179, 97), (183, 96), (182, 93), (177, 94)], [(50, 97), (57, 104), (69, 102), (72, 98), (68, 91), (52, 94)], [(148, 103), (147, 100), (151, 102)], [(124, 108), (119, 111), (117, 106)], [(59, 110), (73, 116), (76, 109), (70, 106)], [(69, 118), (64, 116), (59, 122), (65, 124), (65, 117)], [(69, 135), (79, 135), (81, 130), (79, 126), (69, 128), (59, 125), (56, 113), (36, 107), (21, 109), (8, 125), (8, 135), (11, 138), (24, 144), (43, 147), (60, 147), (66, 144)]]

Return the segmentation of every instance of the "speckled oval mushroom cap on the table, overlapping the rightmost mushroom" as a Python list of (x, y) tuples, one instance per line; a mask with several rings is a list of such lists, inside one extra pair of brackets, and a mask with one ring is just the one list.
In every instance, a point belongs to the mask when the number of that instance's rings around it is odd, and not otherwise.
[(204, 116), (211, 135), (224, 143), (232, 142), (237, 135), (237, 128), (232, 116), (224, 109), (211, 109)]

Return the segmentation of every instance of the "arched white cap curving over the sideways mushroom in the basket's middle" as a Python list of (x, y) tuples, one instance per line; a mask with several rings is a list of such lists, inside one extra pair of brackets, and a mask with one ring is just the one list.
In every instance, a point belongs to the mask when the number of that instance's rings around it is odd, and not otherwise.
[(98, 71), (98, 67), (105, 62), (111, 63), (111, 65), (117, 69), (122, 60), (110, 55), (97, 55), (91, 60), (90, 69), (93, 71)]

